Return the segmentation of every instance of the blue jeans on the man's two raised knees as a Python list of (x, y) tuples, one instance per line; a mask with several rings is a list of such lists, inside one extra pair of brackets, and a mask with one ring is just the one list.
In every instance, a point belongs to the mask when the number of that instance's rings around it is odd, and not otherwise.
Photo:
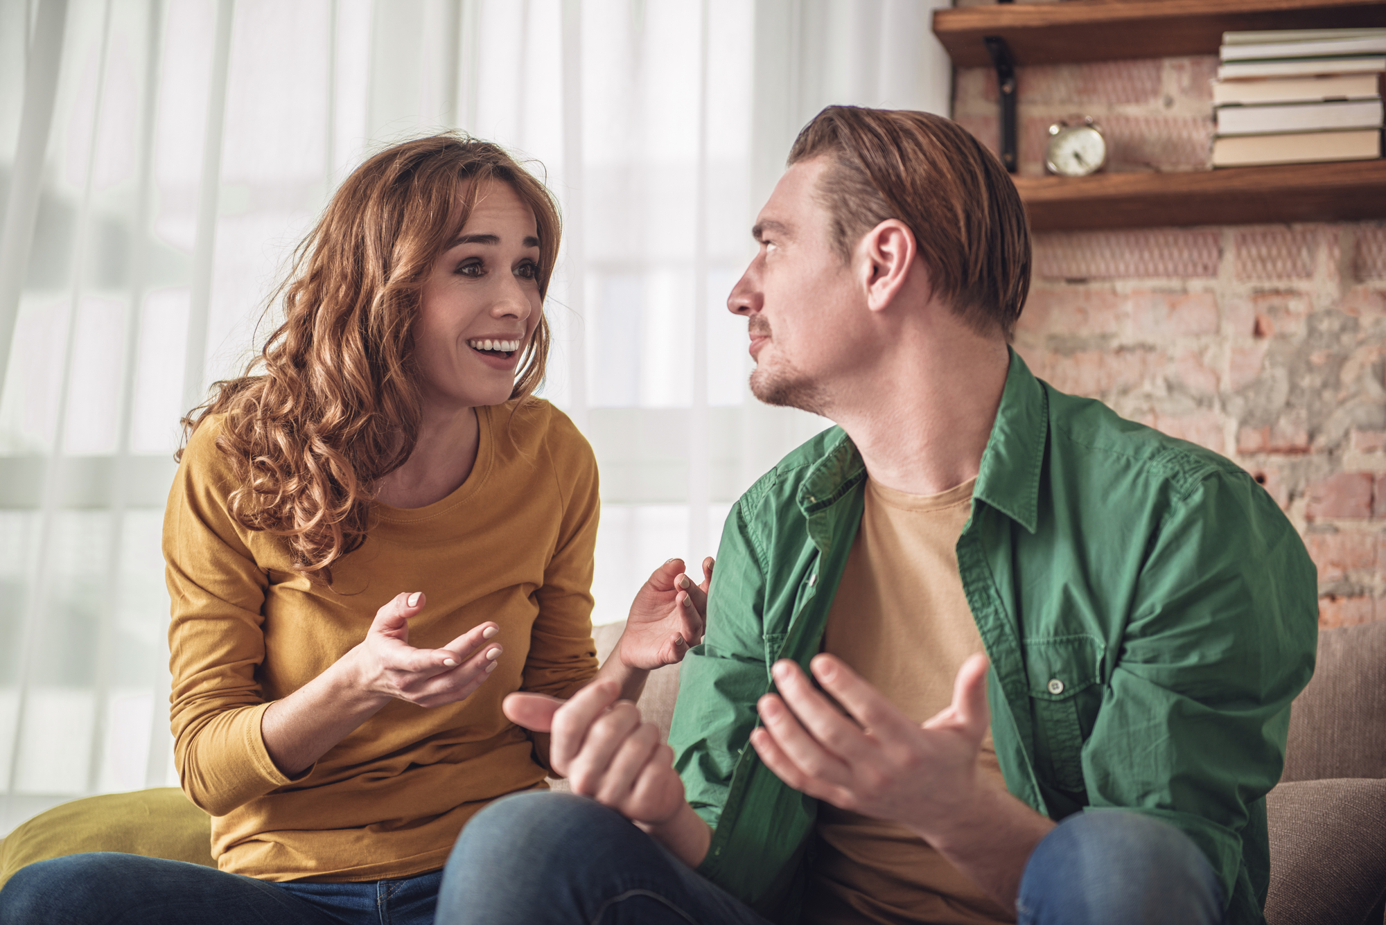
[[(1222, 890), (1203, 853), (1160, 820), (1080, 813), (1035, 847), (1020, 925), (1214, 925)], [(769, 925), (617, 813), (520, 793), (478, 813), (448, 860), (438, 925)]]

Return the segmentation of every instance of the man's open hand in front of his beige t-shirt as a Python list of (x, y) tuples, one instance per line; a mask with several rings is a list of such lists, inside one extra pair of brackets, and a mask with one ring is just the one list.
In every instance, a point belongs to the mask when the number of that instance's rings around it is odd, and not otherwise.
[(952, 703), (920, 726), (833, 655), (814, 656), (809, 667), (848, 716), (798, 665), (776, 662), (779, 695), (760, 699), (764, 726), (751, 745), (794, 789), (931, 841), (966, 813), (977, 789), (977, 752), (991, 723), (987, 665), (985, 655), (967, 659)]

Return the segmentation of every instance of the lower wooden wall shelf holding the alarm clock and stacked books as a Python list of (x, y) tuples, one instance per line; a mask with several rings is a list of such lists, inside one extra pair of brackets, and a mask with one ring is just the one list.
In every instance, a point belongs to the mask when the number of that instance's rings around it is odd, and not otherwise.
[(1386, 219), (1386, 161), (1013, 177), (1035, 231)]

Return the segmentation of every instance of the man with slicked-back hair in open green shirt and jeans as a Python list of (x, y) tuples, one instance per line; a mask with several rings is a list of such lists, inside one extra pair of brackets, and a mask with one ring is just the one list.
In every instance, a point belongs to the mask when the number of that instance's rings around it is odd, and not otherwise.
[(513, 695), (595, 799), (488, 809), (444, 889), (486, 922), (1263, 921), (1317, 638), (1293, 528), (1009, 350), (1028, 234), (966, 132), (832, 107), (789, 162), (729, 307), (757, 397), (839, 426), (728, 518), (672, 749), (614, 688)]

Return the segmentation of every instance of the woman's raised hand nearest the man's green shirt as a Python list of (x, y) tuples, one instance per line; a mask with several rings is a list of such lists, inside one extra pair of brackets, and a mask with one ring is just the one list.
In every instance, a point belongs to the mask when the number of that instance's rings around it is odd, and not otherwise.
[(712, 557), (703, 559), (701, 584), (683, 573), (683, 559), (669, 559), (654, 569), (636, 593), (617, 644), (617, 654), (628, 667), (653, 672), (674, 665), (689, 647), (703, 641), (712, 565)]

